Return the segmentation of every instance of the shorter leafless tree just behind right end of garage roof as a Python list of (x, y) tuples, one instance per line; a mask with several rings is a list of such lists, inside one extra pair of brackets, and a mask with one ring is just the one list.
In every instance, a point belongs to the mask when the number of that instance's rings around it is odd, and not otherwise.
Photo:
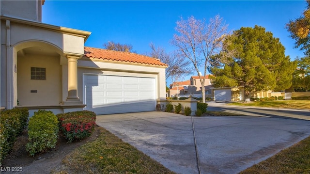
[(182, 77), (192, 72), (190, 62), (176, 53), (167, 53), (162, 47), (155, 47), (153, 43), (150, 44), (152, 52), (149, 56), (159, 59), (162, 63), (168, 64), (166, 68), (166, 80), (168, 78), (174, 79)]

